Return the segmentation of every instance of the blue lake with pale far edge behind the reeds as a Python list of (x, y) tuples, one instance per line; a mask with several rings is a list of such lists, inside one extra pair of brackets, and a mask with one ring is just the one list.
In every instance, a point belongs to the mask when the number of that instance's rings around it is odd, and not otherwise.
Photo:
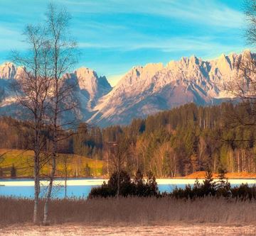
[[(86, 198), (93, 187), (100, 186), (107, 179), (68, 179), (67, 196), (76, 198)], [(202, 183), (203, 179), (199, 179)], [(232, 186), (240, 184), (256, 184), (256, 179), (229, 179)], [(195, 179), (156, 179), (159, 191), (171, 192), (176, 186), (184, 188), (186, 184), (195, 182)], [(47, 191), (47, 181), (41, 181), (41, 197), (45, 196)], [(64, 198), (65, 182), (63, 179), (54, 181), (53, 197)], [(32, 179), (0, 179), (0, 196), (13, 196), (23, 198), (33, 198), (34, 188)]]

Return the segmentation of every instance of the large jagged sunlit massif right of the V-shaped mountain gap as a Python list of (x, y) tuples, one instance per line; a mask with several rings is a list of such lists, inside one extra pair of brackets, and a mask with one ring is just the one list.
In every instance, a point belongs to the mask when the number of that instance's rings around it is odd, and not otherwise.
[(95, 106), (97, 112), (89, 121), (102, 126), (128, 124), (134, 117), (144, 118), (184, 103), (218, 103), (231, 96), (225, 91), (225, 84), (237, 76), (235, 64), (248, 55), (254, 56), (245, 51), (210, 61), (192, 56), (166, 66), (160, 63), (133, 67), (100, 99)]

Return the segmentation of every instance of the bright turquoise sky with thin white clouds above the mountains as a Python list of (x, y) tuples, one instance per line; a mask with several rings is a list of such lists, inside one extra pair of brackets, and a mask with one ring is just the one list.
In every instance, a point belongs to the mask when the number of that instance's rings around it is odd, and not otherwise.
[[(246, 45), (242, 0), (55, 0), (70, 12), (76, 67), (114, 86), (131, 67), (196, 55), (213, 59)], [(48, 1), (0, 0), (0, 63), (26, 50), (23, 29), (45, 18)]]

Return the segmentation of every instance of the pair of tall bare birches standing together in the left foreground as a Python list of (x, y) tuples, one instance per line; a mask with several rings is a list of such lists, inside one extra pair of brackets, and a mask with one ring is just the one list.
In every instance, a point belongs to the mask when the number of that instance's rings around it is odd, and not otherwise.
[[(16, 78), (13, 89), (18, 103), (25, 108), (27, 120), (31, 120), (34, 130), (34, 181), (35, 204), (33, 222), (38, 223), (38, 198), (40, 193), (40, 169), (45, 164), (51, 166), (48, 176), (48, 192), (44, 207), (43, 223), (48, 224), (48, 203), (56, 171), (58, 143), (72, 135), (65, 132), (74, 124), (75, 116), (68, 120), (65, 115), (74, 110), (78, 101), (73, 96), (77, 84), (73, 79), (63, 77), (77, 61), (76, 43), (68, 38), (70, 15), (65, 9), (49, 4), (46, 23), (43, 26), (27, 26), (24, 32), (29, 50), (26, 55), (12, 53), (12, 61), (21, 66), (23, 73)], [(71, 112), (70, 112), (71, 114)], [(69, 115), (70, 115), (69, 114)], [(24, 118), (24, 117), (23, 117)], [(45, 131), (48, 130), (52, 150), (42, 158), (46, 148)], [(67, 135), (68, 134), (68, 135)]]

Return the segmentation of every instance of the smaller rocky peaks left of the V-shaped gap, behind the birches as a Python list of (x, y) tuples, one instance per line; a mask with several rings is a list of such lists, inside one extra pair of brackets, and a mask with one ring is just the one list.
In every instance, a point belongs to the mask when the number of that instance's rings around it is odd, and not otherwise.
[[(2, 115), (18, 117), (18, 114), (22, 112), (22, 108), (16, 106), (15, 94), (11, 89), (15, 79), (22, 79), (22, 73), (24, 73), (23, 69), (16, 68), (11, 62), (0, 65), (0, 93), (4, 94), (4, 101), (1, 103), (0, 109)], [(66, 116), (76, 116), (83, 121), (95, 113), (92, 108), (97, 100), (112, 89), (106, 77), (98, 77), (95, 71), (85, 67), (79, 68), (73, 73), (64, 74), (63, 82), (73, 84), (73, 91), (69, 99), (78, 101), (75, 114), (68, 112)]]

